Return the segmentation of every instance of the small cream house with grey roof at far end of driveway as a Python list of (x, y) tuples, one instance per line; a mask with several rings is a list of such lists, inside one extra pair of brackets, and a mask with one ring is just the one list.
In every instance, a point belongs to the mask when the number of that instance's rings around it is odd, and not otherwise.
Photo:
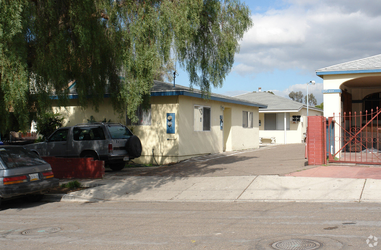
[[(268, 92), (252, 92), (235, 97), (268, 105), (259, 110), (259, 138), (262, 138), (262, 142), (287, 144), (304, 141), (307, 105)], [(308, 107), (309, 116), (322, 114), (320, 108)]]

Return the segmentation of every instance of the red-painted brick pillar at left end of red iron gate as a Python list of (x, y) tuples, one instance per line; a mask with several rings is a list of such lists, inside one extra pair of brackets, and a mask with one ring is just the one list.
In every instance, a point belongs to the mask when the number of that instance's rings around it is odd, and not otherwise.
[(308, 165), (324, 164), (324, 116), (308, 116), (307, 154)]

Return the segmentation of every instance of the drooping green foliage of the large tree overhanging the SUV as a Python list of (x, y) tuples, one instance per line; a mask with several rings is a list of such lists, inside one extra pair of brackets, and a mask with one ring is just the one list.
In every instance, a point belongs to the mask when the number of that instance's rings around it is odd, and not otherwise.
[(28, 113), (51, 110), (51, 96), (67, 107), (75, 81), (83, 108), (97, 111), (107, 92), (134, 121), (171, 58), (208, 96), (251, 25), (239, 0), (0, 0), (1, 115), (25, 127)]

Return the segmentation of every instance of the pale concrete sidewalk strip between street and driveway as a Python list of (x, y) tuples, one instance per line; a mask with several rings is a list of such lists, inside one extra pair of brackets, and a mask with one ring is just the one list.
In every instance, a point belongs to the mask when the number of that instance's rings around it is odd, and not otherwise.
[(286, 177), (117, 177), (80, 181), (94, 186), (45, 201), (62, 202), (381, 202), (381, 180)]

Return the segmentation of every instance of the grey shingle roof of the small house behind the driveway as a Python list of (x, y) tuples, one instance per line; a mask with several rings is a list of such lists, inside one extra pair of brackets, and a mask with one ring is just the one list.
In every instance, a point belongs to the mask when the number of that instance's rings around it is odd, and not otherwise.
[[(307, 105), (300, 102), (295, 102), (291, 99), (285, 97), (276, 96), (267, 92), (253, 92), (246, 93), (239, 96), (234, 96), (236, 98), (248, 101), (256, 101), (259, 103), (267, 104), (266, 111), (275, 111), (275, 110), (300, 110), (301, 108), (307, 108)], [(320, 110), (319, 108), (309, 107), (315, 110)]]

